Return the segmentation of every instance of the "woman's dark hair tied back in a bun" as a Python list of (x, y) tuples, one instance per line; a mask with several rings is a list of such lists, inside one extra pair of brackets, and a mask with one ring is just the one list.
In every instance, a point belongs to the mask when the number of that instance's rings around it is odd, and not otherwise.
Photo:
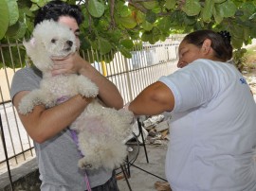
[(228, 31), (197, 30), (185, 36), (183, 41), (201, 47), (206, 39), (210, 39), (210, 46), (215, 51), (216, 58), (222, 61), (229, 61), (232, 58), (233, 48)]

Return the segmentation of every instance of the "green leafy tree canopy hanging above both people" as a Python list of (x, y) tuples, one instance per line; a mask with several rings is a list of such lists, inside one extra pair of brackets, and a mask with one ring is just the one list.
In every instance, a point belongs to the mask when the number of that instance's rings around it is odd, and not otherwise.
[[(0, 0), (1, 43), (28, 39), (34, 15), (48, 1)], [(97, 50), (95, 52), (104, 56), (106, 62), (111, 61), (112, 53), (117, 51), (131, 58), (134, 40), (155, 43), (164, 41), (170, 34), (198, 29), (229, 31), (235, 58), (241, 58), (245, 54), (241, 49), (243, 43), (251, 43), (256, 36), (256, 3), (253, 0), (65, 1), (82, 8), (85, 18), (81, 26), (82, 50)], [(21, 50), (20, 54), (25, 57), (25, 51)], [(93, 58), (102, 57), (95, 55)], [(6, 60), (9, 64), (9, 58)]]

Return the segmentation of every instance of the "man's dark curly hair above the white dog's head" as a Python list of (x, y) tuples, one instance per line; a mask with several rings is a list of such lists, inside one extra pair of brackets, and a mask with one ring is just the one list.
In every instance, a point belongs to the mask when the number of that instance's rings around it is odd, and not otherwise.
[(83, 16), (81, 9), (76, 5), (69, 5), (63, 1), (50, 1), (44, 7), (40, 8), (34, 20), (34, 26), (44, 20), (58, 21), (61, 16), (74, 18), (78, 25), (82, 24)]

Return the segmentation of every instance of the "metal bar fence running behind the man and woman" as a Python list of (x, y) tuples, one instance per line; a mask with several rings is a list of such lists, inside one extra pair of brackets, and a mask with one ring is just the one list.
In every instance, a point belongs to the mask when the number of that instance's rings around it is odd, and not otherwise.
[[(104, 62), (104, 58), (101, 58), (101, 62), (92, 64), (102, 75), (117, 85), (124, 102), (127, 103), (146, 86), (177, 69), (177, 47), (181, 38), (182, 36), (174, 36), (166, 42), (155, 43), (154, 45), (144, 43), (142, 49), (140, 47), (132, 52), (131, 59), (116, 53), (113, 61), (109, 63)], [(5, 65), (3, 48), (9, 48), (9, 56), (12, 57), (11, 55), (14, 54), (11, 52), (12, 45), (17, 44), (3, 45), (0, 43), (0, 64), (2, 63), (4, 66), (0, 69), (0, 114), (2, 122), (2, 129), (0, 130), (0, 176), (5, 172), (10, 173), (12, 168), (35, 157), (33, 141), (27, 135), (9, 98), (9, 85), (17, 69)], [(20, 44), (18, 48), (20, 48)], [(88, 54), (88, 52), (83, 54)], [(19, 56), (19, 54), (15, 55)], [(21, 58), (18, 58), (18, 61), (20, 60)]]

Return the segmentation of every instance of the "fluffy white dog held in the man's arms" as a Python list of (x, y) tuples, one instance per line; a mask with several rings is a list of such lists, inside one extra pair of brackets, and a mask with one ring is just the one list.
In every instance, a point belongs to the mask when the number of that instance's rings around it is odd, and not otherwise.
[(127, 154), (123, 140), (131, 133), (133, 114), (124, 110), (104, 108), (97, 99), (98, 87), (84, 76), (59, 75), (52, 77), (52, 57), (65, 57), (76, 51), (75, 35), (67, 27), (54, 21), (44, 21), (35, 27), (33, 37), (24, 42), (27, 55), (42, 71), (40, 89), (25, 96), (19, 112), (30, 113), (35, 105), (53, 107), (71, 96), (81, 94), (95, 97), (70, 126), (78, 134), (78, 148), (82, 152), (82, 168), (111, 168), (120, 165)]

